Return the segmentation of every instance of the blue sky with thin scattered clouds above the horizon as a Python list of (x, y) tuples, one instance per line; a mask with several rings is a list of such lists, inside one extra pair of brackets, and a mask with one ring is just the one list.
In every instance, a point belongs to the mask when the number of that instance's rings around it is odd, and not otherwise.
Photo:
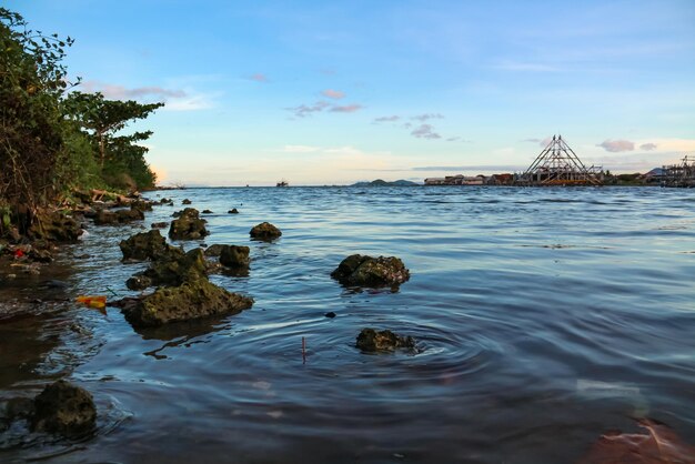
[(3, 0), (78, 90), (163, 101), (160, 184), (349, 184), (695, 154), (695, 1)]

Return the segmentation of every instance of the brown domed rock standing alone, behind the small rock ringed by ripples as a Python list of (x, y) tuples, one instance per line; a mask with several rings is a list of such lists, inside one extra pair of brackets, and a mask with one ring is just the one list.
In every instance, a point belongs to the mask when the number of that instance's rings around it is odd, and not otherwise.
[(395, 256), (364, 256), (353, 254), (345, 258), (331, 273), (344, 285), (385, 286), (399, 285), (410, 279), (410, 271)]

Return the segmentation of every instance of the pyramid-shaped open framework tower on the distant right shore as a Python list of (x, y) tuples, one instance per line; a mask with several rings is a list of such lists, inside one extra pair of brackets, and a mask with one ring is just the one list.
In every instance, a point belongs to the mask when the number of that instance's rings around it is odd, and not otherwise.
[(523, 174), (516, 176), (518, 185), (602, 185), (601, 167), (586, 168), (580, 157), (562, 140), (553, 140), (531, 163)]

